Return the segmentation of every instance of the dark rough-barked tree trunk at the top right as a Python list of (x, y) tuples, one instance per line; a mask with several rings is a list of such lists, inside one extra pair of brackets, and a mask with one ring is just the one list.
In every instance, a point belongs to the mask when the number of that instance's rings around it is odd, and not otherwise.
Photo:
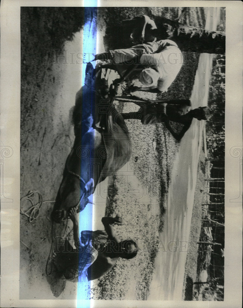
[(152, 15), (158, 31), (164, 33), (165, 24), (173, 27), (169, 39), (177, 43), (181, 51), (209, 54), (225, 54), (225, 31), (209, 31), (183, 25), (162, 16)]

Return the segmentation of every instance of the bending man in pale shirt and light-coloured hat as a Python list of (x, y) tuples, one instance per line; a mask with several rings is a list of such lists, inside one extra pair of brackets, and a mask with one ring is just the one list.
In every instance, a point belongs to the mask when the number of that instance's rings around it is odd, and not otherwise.
[[(86, 62), (87, 55), (84, 55)], [(133, 46), (127, 49), (116, 49), (94, 56), (100, 67), (117, 70), (121, 63), (129, 65), (125, 76), (134, 68), (141, 69), (140, 82), (145, 86), (133, 87), (132, 91), (165, 92), (179, 73), (183, 57), (176, 43), (171, 40), (160, 40)], [(124, 79), (124, 78), (123, 78)], [(122, 79), (122, 80), (123, 80)]]

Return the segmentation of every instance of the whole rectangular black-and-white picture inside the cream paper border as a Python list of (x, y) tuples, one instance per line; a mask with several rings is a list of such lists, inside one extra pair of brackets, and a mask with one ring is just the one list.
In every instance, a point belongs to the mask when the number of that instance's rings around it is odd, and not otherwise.
[(19, 7), (19, 300), (227, 299), (229, 9), (177, 3)]

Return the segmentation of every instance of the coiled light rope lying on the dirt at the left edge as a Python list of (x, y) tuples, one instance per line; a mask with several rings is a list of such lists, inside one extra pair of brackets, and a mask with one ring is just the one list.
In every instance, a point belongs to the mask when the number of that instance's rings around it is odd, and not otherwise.
[[(35, 200), (36, 196), (38, 197), (38, 200)], [(27, 210), (24, 209), (24, 201), (26, 200), (31, 204), (30, 208)], [(20, 213), (28, 217), (29, 221), (32, 222), (38, 217), (43, 203), (53, 202), (55, 201), (43, 201), (42, 195), (38, 190), (30, 190), (26, 196), (20, 199)]]

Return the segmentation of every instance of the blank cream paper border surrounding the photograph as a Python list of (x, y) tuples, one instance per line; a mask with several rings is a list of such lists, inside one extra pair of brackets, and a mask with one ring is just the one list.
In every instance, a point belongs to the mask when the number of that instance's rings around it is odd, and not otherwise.
[[(117, 4), (117, 5), (116, 5)], [(97, 6), (226, 7), (225, 67), (225, 300), (102, 301), (90, 307), (241, 307), (242, 299), (242, 2), (241, 1), (98, 1)], [(1, 1), (1, 306), (78, 307), (76, 300), (19, 300), (20, 227), (20, 7), (83, 6), (69, 1)], [(12, 150), (11, 150), (12, 149)], [(7, 154), (13, 152), (12, 155)], [(1, 170), (1, 171), (2, 171)], [(3, 172), (3, 171), (2, 171)], [(1, 195), (1, 199), (2, 199)], [(238, 199), (237, 199), (238, 198)], [(3, 199), (2, 199), (3, 200)]]

